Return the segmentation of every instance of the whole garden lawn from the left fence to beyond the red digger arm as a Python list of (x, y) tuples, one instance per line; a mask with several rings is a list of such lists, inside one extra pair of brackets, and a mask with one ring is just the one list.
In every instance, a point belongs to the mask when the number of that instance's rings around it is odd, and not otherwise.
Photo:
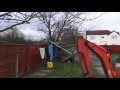
[[(115, 57), (120, 57), (120, 54), (112, 53), (110, 56), (111, 62), (114, 64)], [(40, 75), (41, 70), (51, 70), (51, 72), (47, 73), (46, 75)], [(100, 75), (95, 70), (94, 66), (92, 66), (92, 72), (93, 76), (95, 78), (99, 78)], [(43, 73), (44, 74), (44, 73)], [(82, 77), (82, 71), (80, 67), (80, 62), (75, 61), (72, 63), (62, 63), (59, 61), (56, 61), (53, 65), (52, 69), (48, 69), (47, 66), (43, 66), (41, 68), (38, 68), (32, 74), (27, 75), (28, 78), (81, 78)]]

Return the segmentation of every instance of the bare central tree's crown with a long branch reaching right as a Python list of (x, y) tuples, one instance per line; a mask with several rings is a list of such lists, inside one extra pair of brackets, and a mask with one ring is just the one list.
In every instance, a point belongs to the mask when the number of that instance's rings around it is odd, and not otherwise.
[(72, 26), (79, 28), (85, 21), (91, 21), (99, 17), (87, 18), (87, 16), (86, 12), (38, 12), (37, 18), (41, 24), (38, 31), (47, 34), (49, 40), (57, 42), (66, 30), (69, 32), (66, 28)]

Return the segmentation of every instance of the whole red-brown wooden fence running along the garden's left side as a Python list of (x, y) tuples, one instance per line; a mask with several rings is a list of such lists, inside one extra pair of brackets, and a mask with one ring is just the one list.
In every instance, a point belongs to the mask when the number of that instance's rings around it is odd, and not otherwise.
[(20, 77), (40, 67), (40, 47), (44, 46), (0, 45), (0, 78)]

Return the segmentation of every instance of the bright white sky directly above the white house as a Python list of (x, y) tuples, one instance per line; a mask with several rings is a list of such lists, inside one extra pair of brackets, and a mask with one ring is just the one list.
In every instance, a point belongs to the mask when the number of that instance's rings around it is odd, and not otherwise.
[(99, 20), (99, 27), (96, 27), (95, 29), (107, 29), (110, 31), (116, 30), (120, 32), (120, 12), (107, 12), (93, 22), (95, 23)]

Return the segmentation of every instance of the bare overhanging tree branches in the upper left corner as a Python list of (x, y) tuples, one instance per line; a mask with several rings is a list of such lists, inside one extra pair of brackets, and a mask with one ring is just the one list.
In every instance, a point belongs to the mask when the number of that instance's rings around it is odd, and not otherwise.
[(0, 12), (0, 32), (9, 30), (15, 26), (30, 23), (35, 12)]

